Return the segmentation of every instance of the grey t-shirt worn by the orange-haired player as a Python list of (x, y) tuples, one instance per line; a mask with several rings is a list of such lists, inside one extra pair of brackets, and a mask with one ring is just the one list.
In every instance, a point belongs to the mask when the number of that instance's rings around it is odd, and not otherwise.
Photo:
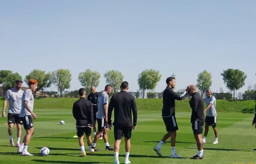
[(26, 109), (26, 107), (24, 105), (24, 101), (28, 102), (28, 106), (30, 107), (31, 111), (33, 111), (34, 96), (33, 96), (32, 91), (30, 89), (25, 90), (25, 92), (22, 95), (20, 117), (25, 117), (26, 115), (31, 115), (31, 113)]

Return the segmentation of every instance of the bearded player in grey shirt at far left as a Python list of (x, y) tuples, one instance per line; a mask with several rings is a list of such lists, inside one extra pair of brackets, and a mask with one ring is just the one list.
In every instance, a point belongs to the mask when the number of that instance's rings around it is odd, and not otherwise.
[(17, 126), (17, 147), (20, 147), (20, 136), (21, 136), (21, 125), (22, 121), (20, 119), (20, 110), (21, 110), (21, 97), (23, 94), (23, 90), (21, 90), (22, 81), (16, 80), (14, 88), (8, 89), (4, 98), (4, 105), (2, 116), (5, 118), (5, 109), (7, 106), (7, 101), (9, 100), (9, 109), (8, 109), (8, 133), (10, 145), (14, 146), (14, 142), (12, 139), (12, 128), (13, 125)]

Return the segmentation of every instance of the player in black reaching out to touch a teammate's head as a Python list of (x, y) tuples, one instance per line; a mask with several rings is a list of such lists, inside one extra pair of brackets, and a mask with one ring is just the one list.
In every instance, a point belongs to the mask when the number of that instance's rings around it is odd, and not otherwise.
[(154, 151), (159, 156), (161, 154), (161, 147), (164, 142), (171, 137), (171, 155), (170, 158), (182, 158), (175, 153), (176, 131), (179, 129), (175, 118), (175, 100), (182, 100), (187, 96), (187, 90), (182, 95), (175, 93), (172, 89), (175, 87), (176, 82), (174, 77), (168, 77), (166, 79), (167, 87), (163, 92), (163, 109), (162, 118), (166, 127), (167, 133), (162, 140), (154, 147)]

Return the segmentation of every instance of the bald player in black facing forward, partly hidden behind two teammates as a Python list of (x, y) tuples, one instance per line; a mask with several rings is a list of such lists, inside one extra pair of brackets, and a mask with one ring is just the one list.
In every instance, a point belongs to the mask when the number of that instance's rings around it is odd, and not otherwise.
[[(96, 92), (96, 89), (94, 86), (91, 87), (91, 93), (88, 95), (87, 100), (90, 100), (93, 106), (93, 132), (94, 136), (96, 135), (96, 115), (98, 112), (98, 97), (99, 94)], [(102, 135), (100, 136), (100, 139), (102, 139)], [(94, 138), (94, 137), (93, 137)]]

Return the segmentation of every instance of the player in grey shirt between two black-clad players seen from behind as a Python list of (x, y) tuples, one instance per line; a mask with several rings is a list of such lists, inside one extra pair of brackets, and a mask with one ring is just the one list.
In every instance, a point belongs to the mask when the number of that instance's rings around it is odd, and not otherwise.
[(114, 148), (110, 147), (108, 144), (108, 95), (110, 95), (112, 91), (112, 87), (108, 84), (105, 86), (105, 89), (102, 93), (100, 93), (98, 97), (98, 113), (96, 116), (98, 123), (98, 132), (94, 136), (92, 149), (94, 151), (99, 151), (97, 149), (96, 143), (100, 138), (100, 135), (103, 133), (103, 139), (105, 141), (106, 149), (105, 150), (114, 150)]

